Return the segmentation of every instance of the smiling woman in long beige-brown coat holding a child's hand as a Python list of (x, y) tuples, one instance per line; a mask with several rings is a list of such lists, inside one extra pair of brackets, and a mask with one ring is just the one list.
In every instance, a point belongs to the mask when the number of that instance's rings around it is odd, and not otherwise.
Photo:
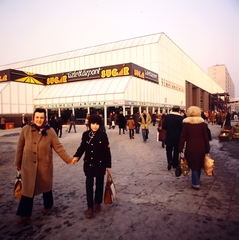
[(15, 225), (28, 223), (32, 213), (34, 196), (43, 193), (44, 208), (47, 214), (53, 205), (53, 152), (66, 162), (75, 163), (61, 143), (53, 128), (46, 123), (46, 110), (37, 108), (33, 121), (25, 126), (20, 134), (14, 165), (21, 170), (22, 197), (17, 215), (21, 216)]

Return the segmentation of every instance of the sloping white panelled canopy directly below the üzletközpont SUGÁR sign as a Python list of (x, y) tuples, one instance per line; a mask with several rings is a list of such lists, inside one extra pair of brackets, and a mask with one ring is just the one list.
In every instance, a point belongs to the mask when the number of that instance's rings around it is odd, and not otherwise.
[(124, 99), (131, 78), (125, 76), (47, 85), (35, 98), (34, 105)]

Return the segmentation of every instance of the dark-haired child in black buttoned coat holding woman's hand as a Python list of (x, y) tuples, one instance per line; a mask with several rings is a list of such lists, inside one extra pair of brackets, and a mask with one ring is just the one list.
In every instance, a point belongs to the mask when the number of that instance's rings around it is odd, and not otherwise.
[[(90, 130), (82, 134), (81, 145), (74, 155), (75, 159), (77, 158), (79, 161), (83, 153), (85, 153), (83, 169), (86, 176), (87, 218), (92, 217), (93, 208), (95, 212), (101, 211), (104, 175), (106, 170), (110, 173), (111, 168), (109, 141), (106, 133), (100, 131), (101, 124), (102, 118), (99, 115), (90, 116)], [(93, 196), (94, 178), (96, 179), (95, 196)]]

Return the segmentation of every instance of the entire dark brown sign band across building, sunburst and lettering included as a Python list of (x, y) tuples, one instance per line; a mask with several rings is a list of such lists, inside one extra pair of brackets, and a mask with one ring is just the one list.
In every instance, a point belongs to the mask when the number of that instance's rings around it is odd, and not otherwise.
[(158, 74), (140, 67), (134, 63), (118, 64), (106, 67), (96, 67), (52, 75), (40, 75), (30, 72), (8, 69), (0, 71), (0, 82), (15, 81), (33, 84), (59, 84), (91, 79), (103, 79), (111, 77), (134, 76), (153, 83), (159, 83)]

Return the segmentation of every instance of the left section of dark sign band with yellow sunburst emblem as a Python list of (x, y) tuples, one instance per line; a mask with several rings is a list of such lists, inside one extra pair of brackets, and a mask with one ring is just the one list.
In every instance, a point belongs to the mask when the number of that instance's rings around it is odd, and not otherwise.
[(8, 69), (0, 72), (0, 82), (3, 81), (14, 81), (14, 82), (23, 82), (23, 83), (32, 83), (32, 84), (40, 84), (45, 85), (46, 76), (23, 72), (19, 70)]

